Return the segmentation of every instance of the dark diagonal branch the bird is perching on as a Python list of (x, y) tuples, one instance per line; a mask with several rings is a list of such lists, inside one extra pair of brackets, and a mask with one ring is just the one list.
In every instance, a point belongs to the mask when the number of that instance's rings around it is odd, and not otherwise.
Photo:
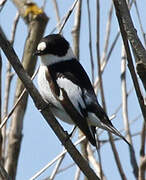
[(37, 107), (38, 110), (40, 110), (40, 113), (45, 118), (49, 126), (52, 128), (58, 139), (67, 149), (72, 159), (75, 161), (75, 163), (80, 167), (80, 169), (89, 179), (99, 180), (99, 178), (96, 176), (94, 171), (90, 168), (87, 161), (81, 156), (79, 151), (72, 144), (68, 134), (63, 130), (63, 128), (58, 123), (58, 121), (54, 118), (49, 108), (45, 108), (47, 107), (47, 103), (42, 99), (38, 90), (33, 85), (31, 79), (24, 71), (16, 53), (14, 52), (8, 40), (4, 37), (1, 29), (0, 29), (0, 46), (4, 51), (5, 55), (7, 56), (8, 60), (10, 61), (11, 65), (13, 66), (14, 70), (16, 71), (18, 77), (21, 79), (27, 91), (29, 92), (30, 96), (32, 97), (35, 106)]

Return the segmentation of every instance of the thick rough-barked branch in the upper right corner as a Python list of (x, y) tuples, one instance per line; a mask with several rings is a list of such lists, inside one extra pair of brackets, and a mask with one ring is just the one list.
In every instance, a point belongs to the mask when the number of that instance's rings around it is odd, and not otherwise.
[(146, 50), (143, 47), (137, 35), (137, 31), (133, 25), (126, 0), (113, 0), (113, 2), (115, 5), (118, 21), (120, 18), (123, 30), (125, 31), (124, 34), (132, 46), (133, 53), (135, 55), (137, 73), (141, 78), (144, 88), (146, 89)]

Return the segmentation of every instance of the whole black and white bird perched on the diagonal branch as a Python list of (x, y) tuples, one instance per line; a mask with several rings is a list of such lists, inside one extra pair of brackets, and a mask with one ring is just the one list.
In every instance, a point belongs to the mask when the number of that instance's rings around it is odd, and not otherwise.
[(98, 103), (88, 75), (63, 36), (51, 34), (42, 38), (35, 55), (41, 56), (40, 93), (54, 116), (78, 126), (94, 146), (96, 127), (127, 142)]

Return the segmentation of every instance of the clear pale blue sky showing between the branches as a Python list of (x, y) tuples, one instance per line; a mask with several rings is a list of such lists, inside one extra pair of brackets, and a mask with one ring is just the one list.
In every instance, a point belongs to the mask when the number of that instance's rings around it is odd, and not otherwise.
[[(35, 1), (39, 6), (42, 5), (42, 1)], [(103, 51), (104, 46), (104, 38), (106, 32), (106, 21), (107, 21), (107, 12), (110, 7), (109, 0), (101, 1), (101, 52)], [(64, 14), (71, 7), (73, 0), (65, 1), (62, 0), (59, 3), (60, 17), (63, 17)], [(142, 8), (146, 6), (146, 2), (142, 0), (138, 1), (138, 7), (140, 9), (140, 15), (142, 17), (142, 22), (146, 19), (146, 13), (142, 11)], [(93, 46), (93, 56), (96, 58), (96, 1), (90, 1), (91, 8), (91, 20), (92, 20), (92, 46)], [(16, 14), (16, 8), (12, 4), (11, 1), (8, 1), (2, 10), (0, 15), (0, 23), (1, 26), (6, 33), (7, 37), (10, 39), (11, 28), (13, 24), (13, 20)], [(45, 7), (46, 14), (50, 17), (48, 22), (45, 35), (49, 34), (52, 29), (56, 26), (56, 17), (55, 12), (53, 10), (52, 1), (48, 0)], [(82, 19), (81, 19), (81, 37), (80, 37), (80, 62), (91, 78), (91, 66), (90, 66), (90, 56), (89, 56), (89, 38), (88, 38), (88, 20), (87, 20), (87, 6), (86, 1), (83, 1), (82, 5)], [(138, 35), (141, 37), (138, 19), (135, 15), (135, 8), (132, 8), (132, 18), (134, 20), (134, 25), (137, 28)], [(67, 24), (63, 29), (63, 35), (72, 45), (72, 35), (71, 31), (74, 24), (74, 13), (72, 13), (69, 18)], [(146, 29), (146, 24), (144, 24), (144, 30)], [(14, 49), (21, 59), (23, 54), (24, 43), (27, 35), (27, 26), (22, 19), (20, 19), (18, 28), (16, 31), (16, 39), (14, 43)], [(111, 37), (110, 37), (110, 45), (113, 42), (113, 39), (118, 32), (118, 24), (115, 13), (113, 13), (112, 18), (112, 29), (111, 29)], [(143, 41), (142, 41), (143, 42)], [(3, 57), (3, 89), (2, 94), (4, 95), (4, 82), (5, 82), (5, 73), (6, 73), (6, 58), (2, 54)], [(112, 115), (115, 112), (115, 109), (121, 103), (121, 81), (120, 81), (120, 57), (121, 57), (121, 38), (119, 38), (118, 43), (111, 55), (110, 61), (107, 65), (106, 70), (103, 73), (103, 82), (104, 82), (104, 91), (105, 91), (105, 99), (107, 104), (107, 112), (108, 115)], [(39, 59), (37, 63), (37, 67), (39, 66)], [(97, 68), (97, 65), (95, 64)], [(97, 70), (95, 70), (95, 77), (97, 76)], [(9, 110), (13, 105), (13, 94), (15, 92), (17, 76), (15, 75), (12, 81), (11, 86), (11, 95), (10, 95), (10, 103)], [(35, 85), (37, 86), (37, 80), (34, 80)], [(128, 90), (133, 88), (132, 80), (130, 77), (130, 73), (127, 70), (127, 87)], [(100, 96), (98, 96), (100, 101)], [(137, 115), (140, 114), (140, 108), (138, 106), (137, 98), (135, 92), (133, 91), (128, 98), (129, 105), (129, 119), (133, 120)], [(60, 122), (60, 121), (59, 121)], [(72, 126), (69, 126), (65, 123), (60, 122), (65, 130), (70, 132)], [(117, 117), (113, 120), (114, 126), (121, 130), (123, 129), (123, 120), (121, 110), (118, 113)], [(139, 132), (142, 126), (142, 118), (133, 123), (131, 126), (132, 133)], [(101, 139), (107, 139), (107, 133), (104, 132), (101, 136)], [(74, 138), (74, 141), (77, 140), (77, 137)], [(133, 138), (134, 148), (136, 149), (137, 160), (139, 162), (139, 147), (140, 147), (140, 137), (136, 136)], [(127, 175), (127, 178), (130, 180), (134, 180), (134, 176), (132, 174), (132, 168), (129, 162), (129, 152), (128, 147), (123, 141), (116, 142), (116, 146), (119, 152), (120, 159), (122, 160), (123, 169)], [(80, 150), (80, 148), (78, 148)], [(23, 125), (23, 140), (22, 147), (20, 152), (20, 158), (18, 163), (17, 177), (16, 180), (27, 180), (30, 179), (35, 173), (37, 173), (40, 169), (42, 169), (49, 161), (54, 159), (58, 154), (60, 154), (63, 150), (63, 146), (51, 130), (51, 128), (47, 125), (40, 112), (35, 108), (32, 99), (29, 97), (28, 99), (28, 107), (25, 114), (24, 125)], [(104, 167), (104, 172), (107, 176), (107, 179), (120, 179), (117, 167), (115, 166), (115, 161), (113, 157), (113, 153), (111, 151), (110, 145), (106, 144), (103, 146), (101, 150), (102, 154), (102, 163)], [(66, 167), (72, 164), (70, 156), (67, 155), (63, 162), (63, 167)], [(41, 176), (37, 178), (37, 180), (42, 180), (45, 177), (48, 177), (53, 170), (53, 166), (45, 171)], [(68, 178), (73, 179), (74, 174), (76, 172), (76, 166), (73, 166), (67, 171), (61, 173), (61, 175), (56, 176), (56, 180), (66, 180)], [(72, 174), (72, 176), (71, 176)]]

